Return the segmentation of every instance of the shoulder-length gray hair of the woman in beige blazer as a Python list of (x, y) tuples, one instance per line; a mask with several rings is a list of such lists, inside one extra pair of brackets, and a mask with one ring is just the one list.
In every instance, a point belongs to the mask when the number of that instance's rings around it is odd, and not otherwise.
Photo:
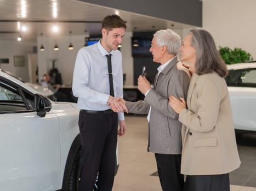
[(220, 58), (212, 35), (203, 29), (192, 29), (189, 34), (192, 36), (191, 46), (196, 49), (195, 72), (202, 75), (215, 71), (225, 77), (228, 73), (227, 67)]

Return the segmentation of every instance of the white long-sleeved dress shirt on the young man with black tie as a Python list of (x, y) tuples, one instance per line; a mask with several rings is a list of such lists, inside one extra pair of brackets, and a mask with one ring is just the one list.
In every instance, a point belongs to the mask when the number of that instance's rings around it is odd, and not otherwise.
[[(72, 91), (78, 97), (77, 105), (84, 110), (107, 110), (110, 96), (109, 70), (106, 55), (111, 54), (113, 89), (115, 97), (123, 97), (122, 54), (119, 50), (107, 52), (100, 44), (82, 47), (76, 56)], [(119, 121), (124, 120), (118, 113)]]

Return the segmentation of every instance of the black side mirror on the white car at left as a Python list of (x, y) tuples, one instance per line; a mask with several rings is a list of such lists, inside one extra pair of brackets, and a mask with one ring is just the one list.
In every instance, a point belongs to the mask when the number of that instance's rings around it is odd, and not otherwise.
[(35, 105), (37, 115), (40, 117), (45, 117), (46, 112), (49, 112), (50, 109), (52, 109), (50, 100), (40, 94), (35, 94)]

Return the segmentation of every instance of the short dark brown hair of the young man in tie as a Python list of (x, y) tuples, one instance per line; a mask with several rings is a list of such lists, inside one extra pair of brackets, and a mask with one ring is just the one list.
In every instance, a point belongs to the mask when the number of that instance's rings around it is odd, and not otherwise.
[(101, 28), (105, 28), (107, 31), (112, 31), (113, 28), (126, 29), (126, 22), (124, 22), (118, 15), (107, 15), (101, 22)]

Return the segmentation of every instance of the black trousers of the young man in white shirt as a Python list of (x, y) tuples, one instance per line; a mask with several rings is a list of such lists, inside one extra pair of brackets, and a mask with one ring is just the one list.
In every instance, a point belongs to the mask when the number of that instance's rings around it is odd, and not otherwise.
[(115, 176), (117, 144), (117, 113), (79, 113), (79, 130), (82, 139), (81, 180), (79, 191), (92, 191), (99, 171), (99, 191), (112, 190)]

